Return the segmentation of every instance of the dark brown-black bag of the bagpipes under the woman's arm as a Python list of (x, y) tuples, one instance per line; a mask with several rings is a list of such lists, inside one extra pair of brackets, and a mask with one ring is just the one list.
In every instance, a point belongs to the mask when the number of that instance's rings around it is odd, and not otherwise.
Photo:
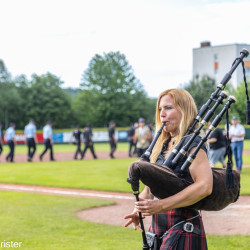
[[(226, 169), (212, 168), (212, 173), (212, 194), (189, 206), (190, 208), (218, 211), (238, 199), (240, 194), (240, 174), (233, 170), (235, 185), (234, 188), (228, 189), (226, 187)], [(150, 188), (151, 193), (159, 199), (172, 196), (192, 184), (192, 182), (178, 177), (170, 168), (144, 160), (138, 160), (130, 164), (129, 178), (133, 181), (141, 180), (143, 184)]]

